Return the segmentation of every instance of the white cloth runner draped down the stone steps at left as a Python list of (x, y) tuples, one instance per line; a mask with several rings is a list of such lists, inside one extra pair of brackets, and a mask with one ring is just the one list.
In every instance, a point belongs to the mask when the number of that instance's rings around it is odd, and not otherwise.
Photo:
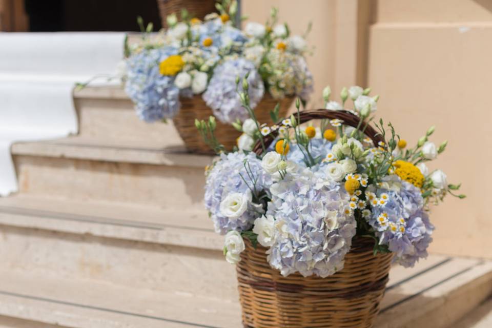
[(0, 33), (0, 196), (17, 191), (12, 143), (77, 133), (75, 83), (116, 76), (124, 39), (116, 32)]

